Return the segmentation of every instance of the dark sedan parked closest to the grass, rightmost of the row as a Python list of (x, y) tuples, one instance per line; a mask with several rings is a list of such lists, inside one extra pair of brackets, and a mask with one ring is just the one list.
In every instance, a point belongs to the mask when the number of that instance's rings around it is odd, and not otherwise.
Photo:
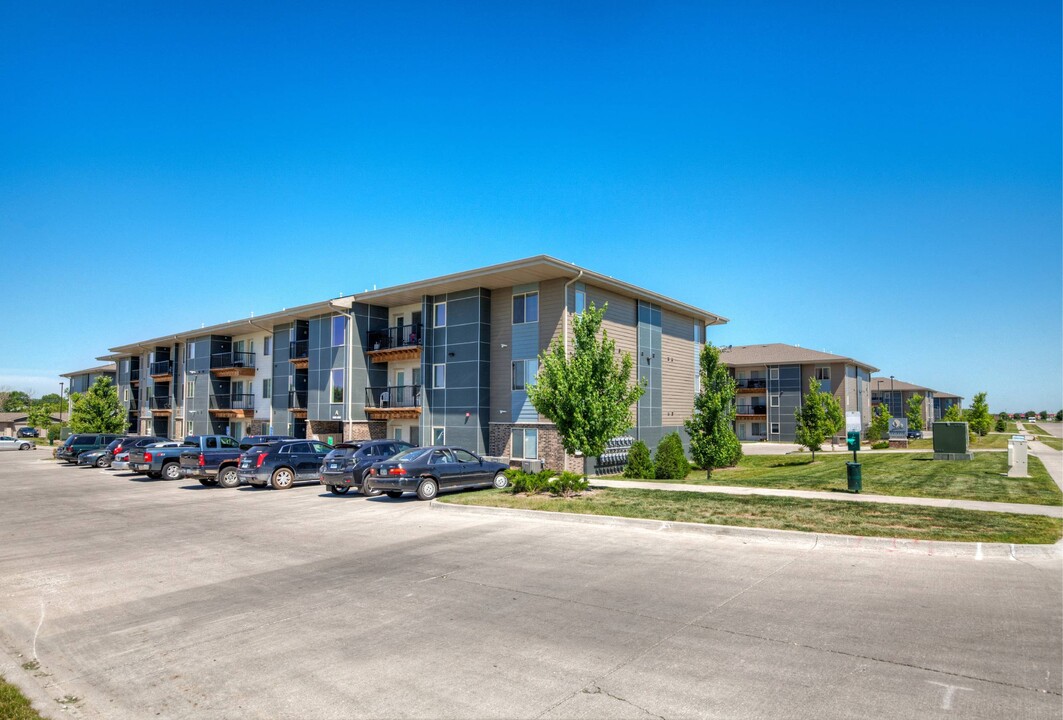
[(509, 484), (505, 463), (486, 461), (463, 448), (436, 445), (414, 448), (376, 463), (369, 469), (366, 484), (370, 493), (383, 490), (389, 498), (417, 492), (421, 500), (432, 500), (445, 490), (471, 487), (505, 487)]

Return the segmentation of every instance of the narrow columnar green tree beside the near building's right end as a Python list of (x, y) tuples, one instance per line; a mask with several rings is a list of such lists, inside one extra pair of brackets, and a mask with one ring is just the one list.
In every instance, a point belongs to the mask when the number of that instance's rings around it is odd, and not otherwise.
[(705, 344), (698, 362), (702, 387), (684, 426), (690, 435), (691, 457), (711, 478), (713, 468), (738, 465), (742, 457), (742, 443), (735, 434), (736, 383), (720, 362), (720, 349), (711, 342)]

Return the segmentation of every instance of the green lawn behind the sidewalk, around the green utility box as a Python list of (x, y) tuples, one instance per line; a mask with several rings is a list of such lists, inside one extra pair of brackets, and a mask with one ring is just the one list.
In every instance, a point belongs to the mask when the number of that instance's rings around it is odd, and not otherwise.
[[(747, 455), (737, 468), (693, 470), (686, 480), (660, 481), (695, 485), (737, 485), (792, 490), (845, 490), (849, 454), (808, 453)], [(1035, 505), (1063, 503), (1056, 483), (1036, 457), (1030, 457), (1028, 479), (1005, 478), (1007, 453), (977, 453), (975, 459), (935, 461), (932, 453), (865, 453), (860, 456), (863, 491), (910, 498), (951, 498)]]

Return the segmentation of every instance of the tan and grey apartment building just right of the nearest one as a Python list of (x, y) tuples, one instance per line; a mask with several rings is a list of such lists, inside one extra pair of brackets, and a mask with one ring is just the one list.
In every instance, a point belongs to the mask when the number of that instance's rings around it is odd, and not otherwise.
[(793, 442), (794, 412), (812, 379), (838, 398), (842, 412), (859, 411), (864, 428), (871, 422), (871, 373), (878, 368), (866, 363), (781, 342), (722, 348), (720, 359), (738, 383), (740, 440)]

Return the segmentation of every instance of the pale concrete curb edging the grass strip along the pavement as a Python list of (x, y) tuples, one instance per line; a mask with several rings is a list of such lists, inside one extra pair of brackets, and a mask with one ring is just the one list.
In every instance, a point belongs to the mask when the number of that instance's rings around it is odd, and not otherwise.
[(735, 525), (711, 525), (701, 522), (672, 522), (668, 520), (645, 520), (642, 518), (621, 518), (613, 515), (578, 515), (575, 513), (554, 513), (551, 510), (526, 510), (510, 507), (488, 507), (484, 505), (455, 505), (433, 500), (428, 505), (433, 510), (465, 513), (485, 517), (509, 516), (524, 519), (550, 520), (573, 524), (600, 525), (606, 528), (634, 528), (658, 533), (680, 533), (703, 535), (742, 542), (771, 542), (788, 545), (806, 550), (837, 548), (843, 550), (876, 550), (914, 555), (942, 557), (969, 557), (981, 559), (1060, 559), (1063, 558), (1063, 540), (1054, 545), (1008, 545), (1002, 542), (950, 542), (945, 540), (913, 540), (899, 537), (862, 537), (859, 535), (832, 535), (829, 533), (803, 533), (795, 530), (773, 530), (767, 528), (740, 528)]

